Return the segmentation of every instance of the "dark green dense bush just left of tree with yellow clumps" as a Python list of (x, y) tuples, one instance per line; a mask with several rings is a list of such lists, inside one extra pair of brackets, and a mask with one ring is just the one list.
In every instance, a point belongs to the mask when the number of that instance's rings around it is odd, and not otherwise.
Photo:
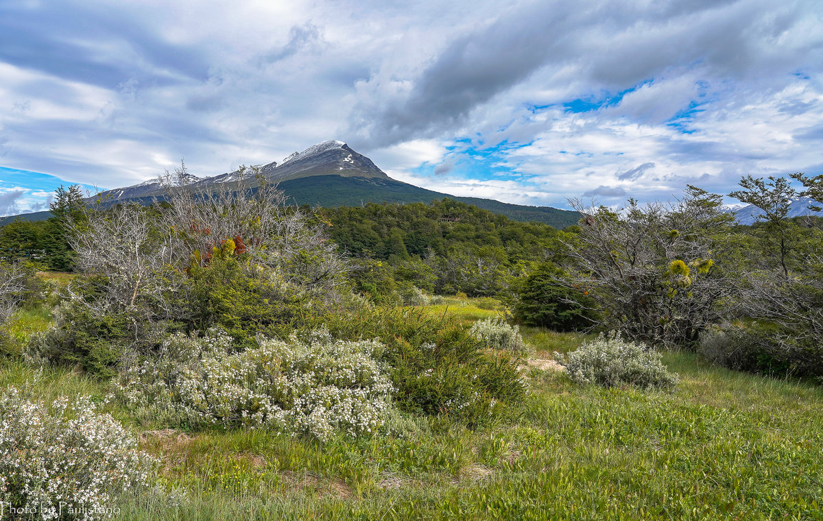
[(593, 324), (594, 301), (585, 290), (570, 290), (558, 283), (563, 270), (544, 263), (523, 282), (514, 303), (514, 318), (518, 321), (556, 331), (578, 331)]

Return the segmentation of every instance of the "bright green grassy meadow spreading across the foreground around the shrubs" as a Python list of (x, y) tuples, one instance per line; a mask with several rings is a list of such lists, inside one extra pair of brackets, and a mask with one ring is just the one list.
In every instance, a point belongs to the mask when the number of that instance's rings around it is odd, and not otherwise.
[[(472, 300), (427, 310), (467, 323), (500, 313)], [(585, 338), (522, 332), (537, 357)], [(529, 370), (514, 420), (481, 431), (435, 419), (409, 439), (327, 444), (263, 430), (144, 433), (159, 488), (124, 497), (115, 519), (823, 519), (823, 389), (685, 352), (663, 361), (681, 376), (671, 393)], [(3, 362), (0, 387), (34, 374)], [(44, 398), (105, 393), (53, 368), (35, 386)], [(179, 505), (172, 490), (185, 491)]]

